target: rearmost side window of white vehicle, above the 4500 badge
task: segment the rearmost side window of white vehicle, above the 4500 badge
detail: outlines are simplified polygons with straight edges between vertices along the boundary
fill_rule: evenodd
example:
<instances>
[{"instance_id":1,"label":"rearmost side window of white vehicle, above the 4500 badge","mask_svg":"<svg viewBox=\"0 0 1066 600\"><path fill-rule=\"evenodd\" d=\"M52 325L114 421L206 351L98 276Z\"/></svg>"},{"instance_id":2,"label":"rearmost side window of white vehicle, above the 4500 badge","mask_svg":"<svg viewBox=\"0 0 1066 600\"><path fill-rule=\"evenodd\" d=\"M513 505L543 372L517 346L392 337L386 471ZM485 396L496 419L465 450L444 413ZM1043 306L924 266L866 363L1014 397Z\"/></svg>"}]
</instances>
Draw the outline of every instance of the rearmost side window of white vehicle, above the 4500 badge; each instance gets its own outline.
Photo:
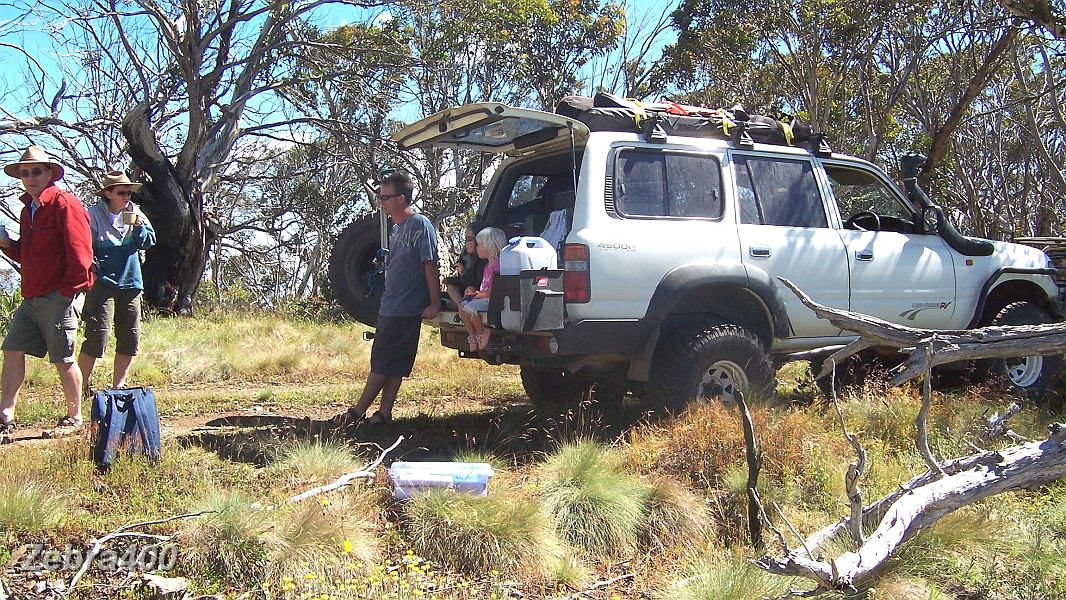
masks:
<instances>
[{"instance_id":1,"label":"rearmost side window of white vehicle, above the 4500 badge","mask_svg":"<svg viewBox=\"0 0 1066 600\"><path fill-rule=\"evenodd\" d=\"M627 149L614 171L615 209L623 216L722 216L722 171L713 157Z\"/></svg>"}]
</instances>

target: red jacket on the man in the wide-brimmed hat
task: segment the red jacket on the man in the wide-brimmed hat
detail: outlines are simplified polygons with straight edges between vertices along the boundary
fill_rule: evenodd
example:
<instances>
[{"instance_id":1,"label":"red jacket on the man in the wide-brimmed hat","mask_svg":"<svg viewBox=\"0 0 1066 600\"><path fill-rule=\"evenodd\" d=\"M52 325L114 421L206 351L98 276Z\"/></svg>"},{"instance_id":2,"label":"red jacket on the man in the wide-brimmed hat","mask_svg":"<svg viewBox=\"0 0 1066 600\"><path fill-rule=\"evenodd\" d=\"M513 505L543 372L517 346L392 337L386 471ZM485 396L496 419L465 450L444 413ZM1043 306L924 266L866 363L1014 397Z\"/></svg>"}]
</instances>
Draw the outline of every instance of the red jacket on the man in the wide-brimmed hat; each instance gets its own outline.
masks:
<instances>
[{"instance_id":1,"label":"red jacket on the man in the wide-brimmed hat","mask_svg":"<svg viewBox=\"0 0 1066 600\"><path fill-rule=\"evenodd\" d=\"M41 206L30 223L29 194L19 220L20 238L3 254L21 263L22 297L33 298L59 290L66 297L93 286L93 236L88 212L78 196L55 184L41 193Z\"/></svg>"}]
</instances>

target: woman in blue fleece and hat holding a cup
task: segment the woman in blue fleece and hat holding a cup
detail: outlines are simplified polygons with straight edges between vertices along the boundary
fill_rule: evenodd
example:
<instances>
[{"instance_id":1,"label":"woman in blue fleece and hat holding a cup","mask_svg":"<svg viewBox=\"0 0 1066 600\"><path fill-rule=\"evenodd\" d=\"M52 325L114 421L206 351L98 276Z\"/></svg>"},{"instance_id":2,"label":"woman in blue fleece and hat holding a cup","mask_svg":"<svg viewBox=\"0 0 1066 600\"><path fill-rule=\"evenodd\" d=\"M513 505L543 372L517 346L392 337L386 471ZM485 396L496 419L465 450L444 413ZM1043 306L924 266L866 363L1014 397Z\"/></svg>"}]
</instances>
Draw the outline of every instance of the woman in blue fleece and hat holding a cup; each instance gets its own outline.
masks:
<instances>
[{"instance_id":1,"label":"woman in blue fleece and hat holding a cup","mask_svg":"<svg viewBox=\"0 0 1066 600\"><path fill-rule=\"evenodd\" d=\"M130 363L138 353L141 334L141 250L156 244L156 231L141 209L131 201L141 183L125 173L112 171L96 193L100 201L88 210L93 231L93 266L96 283L85 295L85 341L78 367L88 387L96 360L103 356L111 321L115 324L115 369L112 387L126 387Z\"/></svg>"}]
</instances>

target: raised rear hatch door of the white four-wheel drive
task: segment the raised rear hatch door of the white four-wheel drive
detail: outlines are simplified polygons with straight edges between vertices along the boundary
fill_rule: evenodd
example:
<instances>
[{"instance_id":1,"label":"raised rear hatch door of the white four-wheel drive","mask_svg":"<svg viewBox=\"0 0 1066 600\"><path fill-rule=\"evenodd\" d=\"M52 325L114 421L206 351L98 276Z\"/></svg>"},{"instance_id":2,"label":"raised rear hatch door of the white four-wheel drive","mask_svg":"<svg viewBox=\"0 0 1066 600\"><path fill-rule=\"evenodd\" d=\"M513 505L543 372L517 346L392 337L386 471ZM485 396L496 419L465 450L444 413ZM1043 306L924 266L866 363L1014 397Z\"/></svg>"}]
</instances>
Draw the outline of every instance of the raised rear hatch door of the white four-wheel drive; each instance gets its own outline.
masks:
<instances>
[{"instance_id":1,"label":"raised rear hatch door of the white four-wheel drive","mask_svg":"<svg viewBox=\"0 0 1066 600\"><path fill-rule=\"evenodd\" d=\"M452 147L511 156L542 152L588 140L588 128L554 113L516 109L499 102L478 102L447 109L392 134L404 150Z\"/></svg>"}]
</instances>

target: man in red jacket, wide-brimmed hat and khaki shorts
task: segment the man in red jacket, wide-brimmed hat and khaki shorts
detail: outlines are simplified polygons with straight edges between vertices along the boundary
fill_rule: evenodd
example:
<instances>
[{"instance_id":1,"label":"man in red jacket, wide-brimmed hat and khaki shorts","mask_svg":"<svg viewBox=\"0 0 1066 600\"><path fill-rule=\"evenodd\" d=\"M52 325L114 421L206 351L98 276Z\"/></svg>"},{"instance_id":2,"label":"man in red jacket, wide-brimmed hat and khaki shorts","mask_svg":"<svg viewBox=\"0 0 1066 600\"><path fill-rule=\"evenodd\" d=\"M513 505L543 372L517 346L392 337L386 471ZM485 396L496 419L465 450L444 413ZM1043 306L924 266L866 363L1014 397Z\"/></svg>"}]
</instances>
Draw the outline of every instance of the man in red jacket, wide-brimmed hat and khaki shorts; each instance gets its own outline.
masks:
<instances>
[{"instance_id":1,"label":"man in red jacket, wide-brimmed hat and khaki shorts","mask_svg":"<svg viewBox=\"0 0 1066 600\"><path fill-rule=\"evenodd\" d=\"M26 379L26 355L55 364L66 399L66 417L50 432L60 436L81 428L81 370L74 359L78 319L84 292L92 287L93 245L88 213L77 196L61 190L59 164L37 146L4 166L22 182L26 205L19 218L19 239L0 234L0 249L21 264L22 304L12 315L3 340L0 375L0 443L15 431L15 401Z\"/></svg>"}]
</instances>

